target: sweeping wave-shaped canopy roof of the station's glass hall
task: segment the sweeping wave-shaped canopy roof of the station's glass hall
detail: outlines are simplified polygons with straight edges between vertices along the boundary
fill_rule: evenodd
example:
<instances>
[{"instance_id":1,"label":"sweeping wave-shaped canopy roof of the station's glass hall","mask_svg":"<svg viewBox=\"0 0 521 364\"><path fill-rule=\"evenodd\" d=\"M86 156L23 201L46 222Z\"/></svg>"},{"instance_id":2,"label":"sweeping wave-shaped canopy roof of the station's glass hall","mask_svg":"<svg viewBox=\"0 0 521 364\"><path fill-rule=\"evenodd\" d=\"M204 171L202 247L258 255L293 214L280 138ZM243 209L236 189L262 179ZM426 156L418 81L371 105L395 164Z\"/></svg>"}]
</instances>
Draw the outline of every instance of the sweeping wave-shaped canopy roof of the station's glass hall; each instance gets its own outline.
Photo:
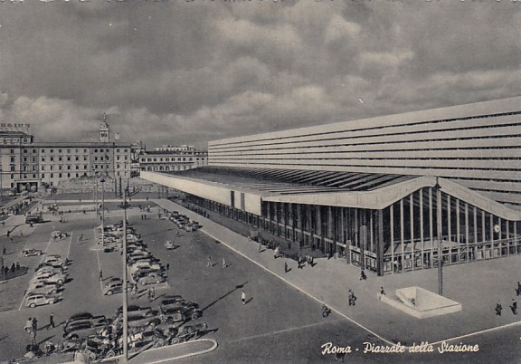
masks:
<instances>
[{"instance_id":1,"label":"sweeping wave-shaped canopy roof of the station's glass hall","mask_svg":"<svg viewBox=\"0 0 521 364\"><path fill-rule=\"evenodd\" d=\"M369 209L384 209L422 187L438 186L491 214L521 220L520 211L441 177L213 166L161 174L230 188L263 201Z\"/></svg>"}]
</instances>

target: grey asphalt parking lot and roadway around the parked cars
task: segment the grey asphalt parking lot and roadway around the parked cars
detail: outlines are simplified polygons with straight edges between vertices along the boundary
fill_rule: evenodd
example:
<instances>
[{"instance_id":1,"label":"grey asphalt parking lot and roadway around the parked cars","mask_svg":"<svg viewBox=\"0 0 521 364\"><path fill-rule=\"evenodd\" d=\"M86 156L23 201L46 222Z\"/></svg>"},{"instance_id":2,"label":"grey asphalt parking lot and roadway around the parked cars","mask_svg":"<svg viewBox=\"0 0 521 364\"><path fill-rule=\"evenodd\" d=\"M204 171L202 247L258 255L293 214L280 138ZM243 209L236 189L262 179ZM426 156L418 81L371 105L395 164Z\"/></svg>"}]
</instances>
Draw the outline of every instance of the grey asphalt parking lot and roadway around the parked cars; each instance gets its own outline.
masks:
<instances>
[{"instance_id":1,"label":"grey asphalt parking lot and roadway around the parked cars","mask_svg":"<svg viewBox=\"0 0 521 364\"><path fill-rule=\"evenodd\" d=\"M340 346L363 349L365 342L378 343L373 335L356 326L335 312L322 317L321 306L277 276L267 273L260 266L236 254L202 231L180 230L166 220L162 209L151 202L147 219L134 207L128 209L128 222L141 235L147 251L153 254L166 268L167 282L138 285L136 293L128 292L128 304L152 307L159 310L160 303L168 296L181 295L186 301L196 302L203 316L187 324L206 323L208 332L204 338L219 343L216 350L204 356L184 359L183 362L327 362L334 355L322 355L321 346L327 342ZM118 204L108 204L106 224L115 224L122 219ZM159 218L159 213L162 213ZM0 244L6 247L5 260L8 264L19 262L28 267L28 273L0 284L0 325L6 328L0 335L0 360L20 358L26 344L31 340L24 331L28 318L36 317L38 331L36 341L43 347L45 342L62 340L63 326L72 314L88 311L93 315L113 317L122 304L122 295L104 295L105 285L113 278L121 278L123 258L120 250L105 252L99 244L96 226L99 218L93 212L65 214L65 223L58 216L46 215L42 225L19 226L24 236L16 235L11 242L5 236ZM54 240L52 232L61 231L68 236ZM167 249L166 241L172 240L175 249ZM23 249L41 249L41 256L24 257ZM69 280L64 284L61 301L36 308L24 306L25 291L33 277L34 268L46 256L60 254L70 260L67 267ZM100 280L99 271L102 271ZM154 287L154 298L149 298L148 289ZM242 292L246 304L242 302ZM47 327L53 313L56 327ZM518 336L518 327L509 329ZM487 348L489 338L496 339L500 333L488 332L475 340ZM500 340L495 340L495 342ZM502 344L505 348L503 362L510 362L516 352L514 342ZM516 346L514 346L516 345ZM494 351L497 352L497 343ZM508 355L509 353L509 355ZM486 359L486 353L483 353ZM354 351L351 360L374 362L380 357ZM403 359L437 362L440 357L433 354L419 356L387 354L384 359L400 362ZM489 358L491 358L489 356ZM450 354L450 360L465 362L476 359L469 354ZM483 361L485 362L485 361Z\"/></svg>"}]
</instances>

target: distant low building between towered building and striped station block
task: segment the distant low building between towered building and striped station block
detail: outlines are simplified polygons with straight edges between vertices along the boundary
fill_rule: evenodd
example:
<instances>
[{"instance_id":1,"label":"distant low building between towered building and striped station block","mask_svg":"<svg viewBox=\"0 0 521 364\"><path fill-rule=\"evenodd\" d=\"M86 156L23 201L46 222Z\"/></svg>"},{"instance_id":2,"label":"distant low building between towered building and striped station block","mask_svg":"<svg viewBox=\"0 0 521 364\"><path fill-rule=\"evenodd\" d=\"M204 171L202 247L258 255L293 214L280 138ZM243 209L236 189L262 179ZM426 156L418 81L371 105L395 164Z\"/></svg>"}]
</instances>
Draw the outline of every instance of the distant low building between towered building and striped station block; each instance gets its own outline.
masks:
<instances>
[{"instance_id":1,"label":"distant low building between towered building and striped station block","mask_svg":"<svg viewBox=\"0 0 521 364\"><path fill-rule=\"evenodd\" d=\"M208 152L195 150L193 146L162 146L153 151L144 150L139 157L142 171L170 172L206 166Z\"/></svg>"}]
</instances>

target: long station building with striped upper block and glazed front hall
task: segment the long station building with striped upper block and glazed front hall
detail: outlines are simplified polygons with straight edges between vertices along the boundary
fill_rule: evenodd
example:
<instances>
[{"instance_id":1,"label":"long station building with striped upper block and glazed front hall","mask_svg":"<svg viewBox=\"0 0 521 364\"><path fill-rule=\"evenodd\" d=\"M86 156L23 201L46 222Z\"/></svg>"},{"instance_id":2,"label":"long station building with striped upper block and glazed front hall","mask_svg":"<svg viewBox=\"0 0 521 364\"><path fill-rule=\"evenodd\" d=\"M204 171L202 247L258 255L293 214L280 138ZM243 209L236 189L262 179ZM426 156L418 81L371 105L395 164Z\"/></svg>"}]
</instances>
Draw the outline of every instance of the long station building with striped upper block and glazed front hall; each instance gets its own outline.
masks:
<instances>
[{"instance_id":1,"label":"long station building with striped upper block and glazed front hall","mask_svg":"<svg viewBox=\"0 0 521 364\"><path fill-rule=\"evenodd\" d=\"M521 97L215 140L141 177L379 275L521 254Z\"/></svg>"}]
</instances>

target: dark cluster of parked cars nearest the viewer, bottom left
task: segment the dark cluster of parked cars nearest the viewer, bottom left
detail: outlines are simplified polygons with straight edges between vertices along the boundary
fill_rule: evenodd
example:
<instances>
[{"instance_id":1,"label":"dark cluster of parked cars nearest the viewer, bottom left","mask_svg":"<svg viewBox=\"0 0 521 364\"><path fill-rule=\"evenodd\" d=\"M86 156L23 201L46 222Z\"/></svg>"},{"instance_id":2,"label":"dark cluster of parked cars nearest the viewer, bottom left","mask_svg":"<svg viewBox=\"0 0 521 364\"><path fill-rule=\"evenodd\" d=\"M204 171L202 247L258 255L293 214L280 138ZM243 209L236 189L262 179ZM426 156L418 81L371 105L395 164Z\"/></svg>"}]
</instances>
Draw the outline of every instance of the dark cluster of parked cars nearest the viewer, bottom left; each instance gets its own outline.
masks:
<instances>
[{"instance_id":1,"label":"dark cluster of parked cars nearest the viewer, bottom left","mask_svg":"<svg viewBox=\"0 0 521 364\"><path fill-rule=\"evenodd\" d=\"M146 345L158 348L203 336L205 322L188 324L203 312L194 302L178 295L165 296L156 307L128 306L128 348L132 352ZM72 315L63 326L62 350L82 350L91 359L105 359L121 353L123 308L112 318L90 312ZM180 324L177 324L180 322Z\"/></svg>"}]
</instances>

